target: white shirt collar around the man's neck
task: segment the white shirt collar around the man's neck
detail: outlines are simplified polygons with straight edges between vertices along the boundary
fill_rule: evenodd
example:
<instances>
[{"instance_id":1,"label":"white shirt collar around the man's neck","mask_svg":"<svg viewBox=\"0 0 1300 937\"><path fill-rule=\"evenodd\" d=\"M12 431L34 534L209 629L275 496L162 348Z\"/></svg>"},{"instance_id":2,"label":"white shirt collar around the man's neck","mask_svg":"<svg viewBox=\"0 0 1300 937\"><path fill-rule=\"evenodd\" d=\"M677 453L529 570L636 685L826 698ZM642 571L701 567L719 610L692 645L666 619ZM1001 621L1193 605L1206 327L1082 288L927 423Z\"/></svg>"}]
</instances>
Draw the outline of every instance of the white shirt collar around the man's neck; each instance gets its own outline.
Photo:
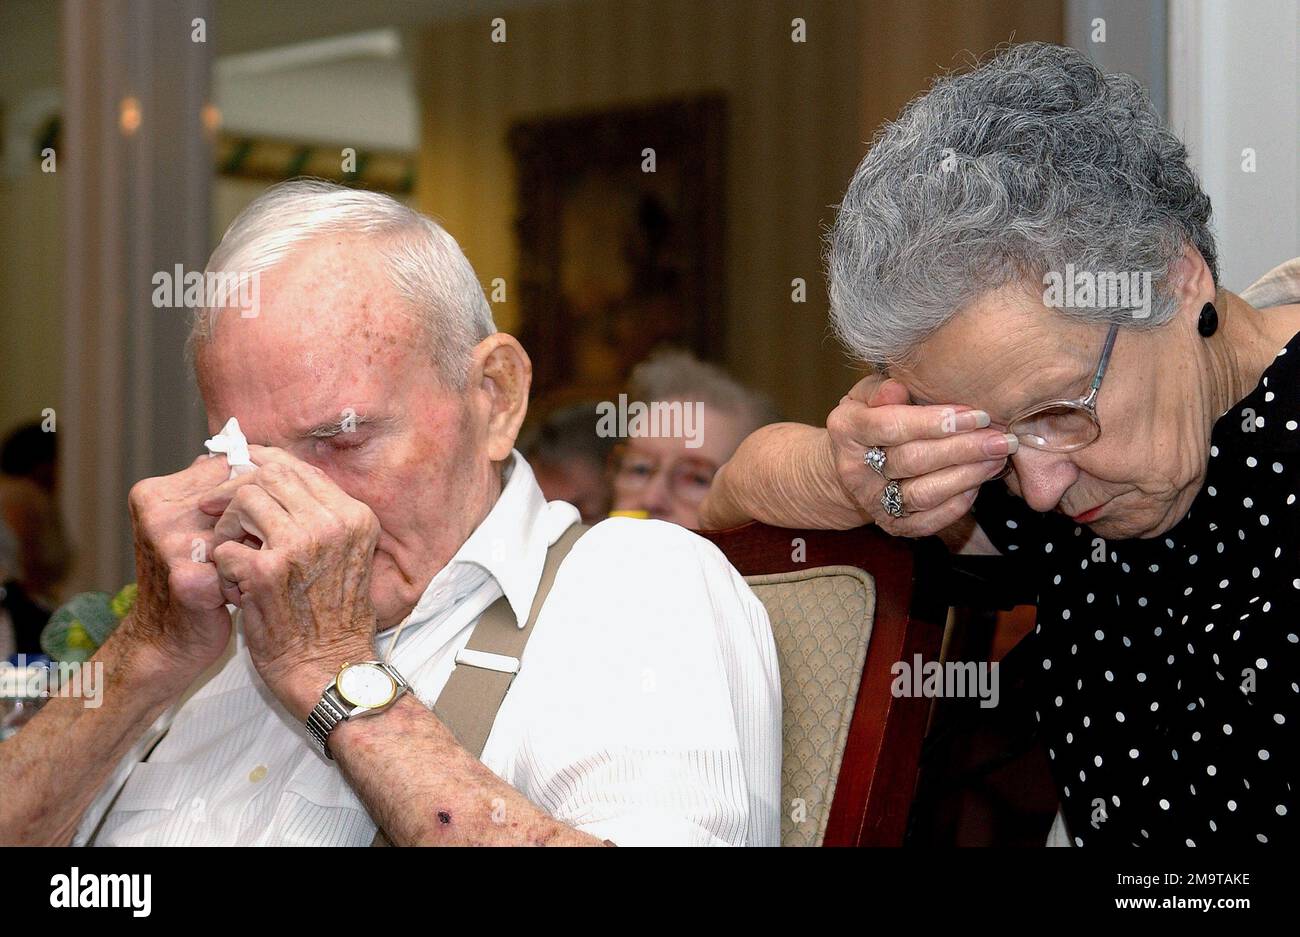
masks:
<instances>
[{"instance_id":1,"label":"white shirt collar around the man's neck","mask_svg":"<svg viewBox=\"0 0 1300 937\"><path fill-rule=\"evenodd\" d=\"M488 577L497 580L519 626L528 623L546 551L578 520L578 513L564 502L547 504L532 467L517 450L511 452L503 481L491 511L425 587L408 626L437 617Z\"/></svg>"}]
</instances>

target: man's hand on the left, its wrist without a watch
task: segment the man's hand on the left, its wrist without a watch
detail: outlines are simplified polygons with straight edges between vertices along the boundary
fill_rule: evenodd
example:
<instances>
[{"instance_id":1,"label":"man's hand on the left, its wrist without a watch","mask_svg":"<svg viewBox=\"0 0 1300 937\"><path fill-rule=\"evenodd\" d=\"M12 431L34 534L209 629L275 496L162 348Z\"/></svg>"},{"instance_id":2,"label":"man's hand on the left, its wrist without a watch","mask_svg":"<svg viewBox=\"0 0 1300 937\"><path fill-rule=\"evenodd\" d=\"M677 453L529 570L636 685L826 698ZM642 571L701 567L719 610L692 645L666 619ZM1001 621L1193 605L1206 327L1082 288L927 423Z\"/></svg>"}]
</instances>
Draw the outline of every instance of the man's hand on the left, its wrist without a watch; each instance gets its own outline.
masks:
<instances>
[{"instance_id":1,"label":"man's hand on the left, its wrist without a watch","mask_svg":"<svg viewBox=\"0 0 1300 937\"><path fill-rule=\"evenodd\" d=\"M214 520L199 508L230 473L202 455L176 474L146 478L127 503L135 538L135 607L114 637L130 642L151 673L185 689L230 641L230 615L212 565Z\"/></svg>"}]
</instances>

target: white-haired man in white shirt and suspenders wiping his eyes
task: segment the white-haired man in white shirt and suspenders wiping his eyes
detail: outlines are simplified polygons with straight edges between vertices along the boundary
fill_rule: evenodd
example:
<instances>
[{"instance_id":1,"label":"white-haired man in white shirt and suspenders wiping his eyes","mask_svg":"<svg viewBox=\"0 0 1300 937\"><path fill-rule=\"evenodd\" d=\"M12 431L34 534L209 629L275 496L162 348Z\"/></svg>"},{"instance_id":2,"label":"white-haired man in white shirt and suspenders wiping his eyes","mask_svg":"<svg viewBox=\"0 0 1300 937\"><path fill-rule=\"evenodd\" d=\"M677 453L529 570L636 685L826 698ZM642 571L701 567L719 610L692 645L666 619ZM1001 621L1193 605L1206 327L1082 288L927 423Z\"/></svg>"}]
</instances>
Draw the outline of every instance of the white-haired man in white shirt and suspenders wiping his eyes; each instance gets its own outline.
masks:
<instances>
[{"instance_id":1,"label":"white-haired man in white shirt and suspenders wiping his eyes","mask_svg":"<svg viewBox=\"0 0 1300 937\"><path fill-rule=\"evenodd\" d=\"M455 240L291 182L209 270L260 277L257 316L200 316L192 342L209 428L238 417L256 468L200 456L131 490L139 599L99 651L104 704L52 700L0 746L0 837L775 845L768 623L677 526L577 541L481 760L430 708L512 669L467 642L493 610L532 619L577 521L514 452L529 360Z\"/></svg>"}]
</instances>

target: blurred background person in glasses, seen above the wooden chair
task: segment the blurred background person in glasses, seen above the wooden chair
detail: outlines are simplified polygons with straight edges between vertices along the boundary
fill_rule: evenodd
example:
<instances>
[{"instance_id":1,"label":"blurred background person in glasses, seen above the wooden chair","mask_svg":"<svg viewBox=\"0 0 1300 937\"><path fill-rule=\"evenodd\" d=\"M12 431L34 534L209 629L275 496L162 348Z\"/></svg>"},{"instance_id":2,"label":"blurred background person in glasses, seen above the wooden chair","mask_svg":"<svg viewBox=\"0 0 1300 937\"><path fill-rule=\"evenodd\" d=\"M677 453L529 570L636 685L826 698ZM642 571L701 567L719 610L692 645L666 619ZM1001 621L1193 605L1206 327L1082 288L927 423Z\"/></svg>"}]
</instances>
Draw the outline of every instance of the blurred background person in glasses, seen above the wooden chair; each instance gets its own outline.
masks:
<instances>
[{"instance_id":1,"label":"blurred background person in glasses, seen above the wooden chair","mask_svg":"<svg viewBox=\"0 0 1300 937\"><path fill-rule=\"evenodd\" d=\"M766 396L676 348L636 365L627 396L629 407L680 412L684 431L672 431L671 420L629 421L612 454L614 509L693 529L718 468L746 435L780 418Z\"/></svg>"}]
</instances>

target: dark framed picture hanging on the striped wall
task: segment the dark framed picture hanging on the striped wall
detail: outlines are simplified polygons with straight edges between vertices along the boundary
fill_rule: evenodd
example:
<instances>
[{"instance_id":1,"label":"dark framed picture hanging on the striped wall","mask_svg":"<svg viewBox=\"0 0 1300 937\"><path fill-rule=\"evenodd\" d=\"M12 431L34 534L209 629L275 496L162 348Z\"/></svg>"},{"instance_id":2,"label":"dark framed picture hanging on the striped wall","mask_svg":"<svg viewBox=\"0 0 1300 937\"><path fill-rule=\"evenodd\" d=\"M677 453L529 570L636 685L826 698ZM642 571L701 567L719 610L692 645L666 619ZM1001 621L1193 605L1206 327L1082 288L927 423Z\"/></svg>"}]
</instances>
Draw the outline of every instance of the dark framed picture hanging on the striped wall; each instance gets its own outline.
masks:
<instances>
[{"instance_id":1,"label":"dark framed picture hanging on the striped wall","mask_svg":"<svg viewBox=\"0 0 1300 937\"><path fill-rule=\"evenodd\" d=\"M534 392L607 399L659 346L722 353L725 103L516 123L521 340Z\"/></svg>"}]
</instances>

